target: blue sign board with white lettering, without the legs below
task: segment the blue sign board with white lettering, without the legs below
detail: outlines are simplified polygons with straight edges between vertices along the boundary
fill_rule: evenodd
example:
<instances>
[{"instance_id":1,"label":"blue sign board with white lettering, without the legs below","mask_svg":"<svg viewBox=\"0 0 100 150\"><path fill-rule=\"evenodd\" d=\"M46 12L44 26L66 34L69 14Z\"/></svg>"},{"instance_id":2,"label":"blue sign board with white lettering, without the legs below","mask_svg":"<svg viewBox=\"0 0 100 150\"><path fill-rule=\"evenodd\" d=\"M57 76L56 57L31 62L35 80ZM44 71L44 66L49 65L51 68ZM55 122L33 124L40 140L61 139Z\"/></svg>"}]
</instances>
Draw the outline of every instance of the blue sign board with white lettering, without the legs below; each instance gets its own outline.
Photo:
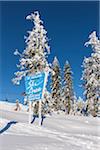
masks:
<instances>
[{"instance_id":1,"label":"blue sign board with white lettering, without the legs below","mask_svg":"<svg viewBox=\"0 0 100 150\"><path fill-rule=\"evenodd\" d=\"M33 76L25 77L26 94L30 101L42 99L45 73L37 73Z\"/></svg>"}]
</instances>

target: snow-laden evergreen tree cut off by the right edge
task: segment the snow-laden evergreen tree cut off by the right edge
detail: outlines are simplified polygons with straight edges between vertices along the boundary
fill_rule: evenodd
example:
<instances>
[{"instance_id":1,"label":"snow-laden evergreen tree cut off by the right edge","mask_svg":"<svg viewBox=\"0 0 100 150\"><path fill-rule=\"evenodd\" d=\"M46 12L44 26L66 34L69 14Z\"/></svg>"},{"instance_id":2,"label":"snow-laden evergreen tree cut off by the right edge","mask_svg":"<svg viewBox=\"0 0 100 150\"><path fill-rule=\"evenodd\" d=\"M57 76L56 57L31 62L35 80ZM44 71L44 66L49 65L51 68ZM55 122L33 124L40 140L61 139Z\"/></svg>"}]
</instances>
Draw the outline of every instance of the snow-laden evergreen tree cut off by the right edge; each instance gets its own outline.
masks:
<instances>
[{"instance_id":1,"label":"snow-laden evergreen tree cut off by the right edge","mask_svg":"<svg viewBox=\"0 0 100 150\"><path fill-rule=\"evenodd\" d=\"M84 58L82 79L84 80L88 113L97 116L100 107L100 40L96 37L95 31L90 34L89 41L85 43L85 46L89 45L93 53L89 58Z\"/></svg>"}]
</instances>

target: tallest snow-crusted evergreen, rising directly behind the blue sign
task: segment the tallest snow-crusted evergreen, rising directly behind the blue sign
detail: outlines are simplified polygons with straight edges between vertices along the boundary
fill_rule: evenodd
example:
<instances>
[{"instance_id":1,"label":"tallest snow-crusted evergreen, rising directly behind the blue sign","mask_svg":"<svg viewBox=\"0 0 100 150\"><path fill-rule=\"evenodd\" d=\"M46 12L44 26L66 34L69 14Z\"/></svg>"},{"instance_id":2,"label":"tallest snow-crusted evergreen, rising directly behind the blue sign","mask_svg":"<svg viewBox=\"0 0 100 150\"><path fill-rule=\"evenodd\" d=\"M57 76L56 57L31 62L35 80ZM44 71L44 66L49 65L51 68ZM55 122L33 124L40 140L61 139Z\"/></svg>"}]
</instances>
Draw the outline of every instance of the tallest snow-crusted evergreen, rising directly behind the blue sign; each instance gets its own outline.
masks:
<instances>
[{"instance_id":1,"label":"tallest snow-crusted evergreen, rising directly behind the blue sign","mask_svg":"<svg viewBox=\"0 0 100 150\"><path fill-rule=\"evenodd\" d=\"M28 37L25 37L26 48L22 54L16 50L15 55L19 55L19 71L15 72L14 84L19 85L23 77L32 75L36 72L49 71L50 67L47 61L47 55L50 53L48 45L47 31L44 29L43 21L40 19L38 11L28 15L34 24L32 31L28 31Z\"/></svg>"}]
</instances>

